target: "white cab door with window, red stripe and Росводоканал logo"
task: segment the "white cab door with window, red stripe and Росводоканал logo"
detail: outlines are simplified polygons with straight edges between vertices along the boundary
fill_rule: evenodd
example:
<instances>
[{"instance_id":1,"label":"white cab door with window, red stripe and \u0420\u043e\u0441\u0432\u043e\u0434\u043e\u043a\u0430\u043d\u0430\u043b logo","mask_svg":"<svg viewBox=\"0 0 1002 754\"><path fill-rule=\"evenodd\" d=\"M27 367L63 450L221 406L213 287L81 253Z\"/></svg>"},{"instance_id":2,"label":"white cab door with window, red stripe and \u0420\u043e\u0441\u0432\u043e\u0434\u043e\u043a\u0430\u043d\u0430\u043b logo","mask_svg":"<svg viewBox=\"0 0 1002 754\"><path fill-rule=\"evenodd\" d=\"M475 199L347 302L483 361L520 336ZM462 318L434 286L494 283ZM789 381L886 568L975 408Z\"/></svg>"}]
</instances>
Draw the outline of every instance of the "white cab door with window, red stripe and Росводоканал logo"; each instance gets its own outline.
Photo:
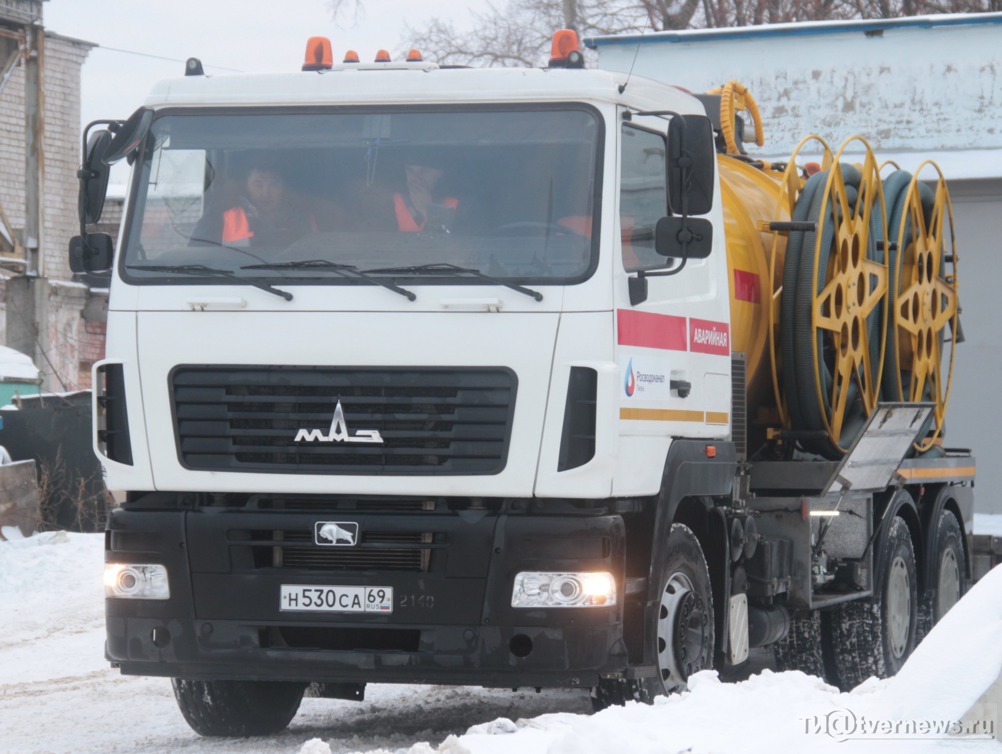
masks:
<instances>
[{"instance_id":1,"label":"white cab door with window, red stripe and \u0420\u043e\u0441\u0432\u043e\u0434\u043e\u043a\u0430\u043d\u0430\u043b logo","mask_svg":"<svg viewBox=\"0 0 1002 754\"><path fill-rule=\"evenodd\" d=\"M667 210L667 121L634 116L619 131L619 262L616 361L619 433L627 436L724 437L729 431L730 341L719 201L714 250L671 276L647 278L647 297L632 305L627 278L676 269L654 251L654 228ZM717 197L719 194L717 193ZM722 273L720 271L722 265Z\"/></svg>"}]
</instances>

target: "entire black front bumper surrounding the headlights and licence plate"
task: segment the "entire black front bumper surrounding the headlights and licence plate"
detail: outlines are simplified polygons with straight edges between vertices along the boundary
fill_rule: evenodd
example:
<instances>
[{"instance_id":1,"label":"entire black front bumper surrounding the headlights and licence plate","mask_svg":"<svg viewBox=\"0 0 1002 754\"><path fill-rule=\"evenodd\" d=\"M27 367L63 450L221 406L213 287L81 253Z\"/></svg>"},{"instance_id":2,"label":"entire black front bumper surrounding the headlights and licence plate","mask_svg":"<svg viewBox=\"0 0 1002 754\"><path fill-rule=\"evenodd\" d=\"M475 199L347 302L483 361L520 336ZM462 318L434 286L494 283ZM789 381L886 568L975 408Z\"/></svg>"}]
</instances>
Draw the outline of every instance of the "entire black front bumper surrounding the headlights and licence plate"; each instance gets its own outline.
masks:
<instances>
[{"instance_id":1,"label":"entire black front bumper surrounding the headlights and licence plate","mask_svg":"<svg viewBox=\"0 0 1002 754\"><path fill-rule=\"evenodd\" d=\"M106 600L105 655L126 675L185 679L595 686L600 674L628 665L622 518L531 508L522 500L475 513L443 504L364 515L116 510L105 559L164 564L170 599ZM276 542L241 538L312 530L332 517L358 522L363 543L377 531L427 531L435 548L416 573L323 571L263 561ZM608 571L617 578L617 605L513 609L520 571ZM392 587L395 609L291 614L279 609L282 584Z\"/></svg>"}]
</instances>

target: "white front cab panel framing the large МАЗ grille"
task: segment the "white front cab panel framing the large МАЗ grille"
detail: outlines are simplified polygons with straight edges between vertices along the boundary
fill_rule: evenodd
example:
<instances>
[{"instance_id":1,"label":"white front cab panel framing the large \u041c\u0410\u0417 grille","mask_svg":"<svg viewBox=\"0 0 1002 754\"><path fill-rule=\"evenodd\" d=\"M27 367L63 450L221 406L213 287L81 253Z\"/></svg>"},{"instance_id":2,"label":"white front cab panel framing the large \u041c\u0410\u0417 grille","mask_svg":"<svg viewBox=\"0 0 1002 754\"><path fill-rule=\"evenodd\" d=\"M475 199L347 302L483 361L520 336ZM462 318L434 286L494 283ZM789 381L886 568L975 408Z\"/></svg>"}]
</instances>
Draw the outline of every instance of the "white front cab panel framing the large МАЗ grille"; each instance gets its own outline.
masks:
<instances>
[{"instance_id":1,"label":"white front cab panel framing the large \u041c\u0410\u0417 grille","mask_svg":"<svg viewBox=\"0 0 1002 754\"><path fill-rule=\"evenodd\" d=\"M363 290L372 293L371 288ZM498 290L494 288L492 293ZM269 296L259 291L253 293ZM248 300L250 295L247 292ZM406 299L400 298L406 303ZM137 318L143 404L157 489L532 494L558 314L441 311L278 314L244 310L139 312ZM508 367L518 377L518 388L507 464L500 473L483 476L188 470L177 457L168 385L170 370L179 364Z\"/></svg>"}]
</instances>

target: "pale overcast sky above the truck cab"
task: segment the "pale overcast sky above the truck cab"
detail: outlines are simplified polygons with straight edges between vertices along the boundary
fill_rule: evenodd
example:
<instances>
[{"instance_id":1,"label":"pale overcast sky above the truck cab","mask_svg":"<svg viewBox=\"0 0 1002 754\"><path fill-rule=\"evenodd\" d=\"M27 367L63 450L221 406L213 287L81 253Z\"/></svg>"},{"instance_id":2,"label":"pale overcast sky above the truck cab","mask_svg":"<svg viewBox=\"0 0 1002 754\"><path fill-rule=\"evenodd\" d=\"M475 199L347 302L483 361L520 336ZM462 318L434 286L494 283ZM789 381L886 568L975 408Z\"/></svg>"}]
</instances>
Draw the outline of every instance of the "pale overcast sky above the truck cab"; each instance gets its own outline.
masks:
<instances>
[{"instance_id":1,"label":"pale overcast sky above the truck cab","mask_svg":"<svg viewBox=\"0 0 1002 754\"><path fill-rule=\"evenodd\" d=\"M153 84L183 73L195 56L206 73L223 66L241 71L299 70L307 39L331 38L335 59L347 49L372 59L381 47L400 46L404 22L420 25L431 16L468 23L467 8L483 0L368 0L353 26L336 24L328 0L49 0L45 26L96 42L83 66L82 119L124 118L142 104ZM110 48L129 50L117 52Z\"/></svg>"}]
</instances>

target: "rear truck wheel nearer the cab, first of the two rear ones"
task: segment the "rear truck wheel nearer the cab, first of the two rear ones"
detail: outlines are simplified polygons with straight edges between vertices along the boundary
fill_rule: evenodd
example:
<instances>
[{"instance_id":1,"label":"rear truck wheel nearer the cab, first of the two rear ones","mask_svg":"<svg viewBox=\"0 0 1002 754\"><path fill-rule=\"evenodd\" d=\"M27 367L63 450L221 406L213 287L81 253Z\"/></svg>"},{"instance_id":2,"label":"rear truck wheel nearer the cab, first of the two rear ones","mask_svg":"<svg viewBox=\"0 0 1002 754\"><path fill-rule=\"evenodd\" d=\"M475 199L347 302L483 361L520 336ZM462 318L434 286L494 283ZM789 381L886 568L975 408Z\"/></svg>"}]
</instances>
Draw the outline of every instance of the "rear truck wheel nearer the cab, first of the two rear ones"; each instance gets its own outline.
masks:
<instances>
[{"instance_id":1,"label":"rear truck wheel nearer the cab, first of the two rear ones","mask_svg":"<svg viewBox=\"0 0 1002 754\"><path fill-rule=\"evenodd\" d=\"M915 649L918 590L915 548L908 524L895 517L880 553L876 599L843 603L827 616L826 652L834 678L843 691L871 676L895 675Z\"/></svg>"}]
</instances>

